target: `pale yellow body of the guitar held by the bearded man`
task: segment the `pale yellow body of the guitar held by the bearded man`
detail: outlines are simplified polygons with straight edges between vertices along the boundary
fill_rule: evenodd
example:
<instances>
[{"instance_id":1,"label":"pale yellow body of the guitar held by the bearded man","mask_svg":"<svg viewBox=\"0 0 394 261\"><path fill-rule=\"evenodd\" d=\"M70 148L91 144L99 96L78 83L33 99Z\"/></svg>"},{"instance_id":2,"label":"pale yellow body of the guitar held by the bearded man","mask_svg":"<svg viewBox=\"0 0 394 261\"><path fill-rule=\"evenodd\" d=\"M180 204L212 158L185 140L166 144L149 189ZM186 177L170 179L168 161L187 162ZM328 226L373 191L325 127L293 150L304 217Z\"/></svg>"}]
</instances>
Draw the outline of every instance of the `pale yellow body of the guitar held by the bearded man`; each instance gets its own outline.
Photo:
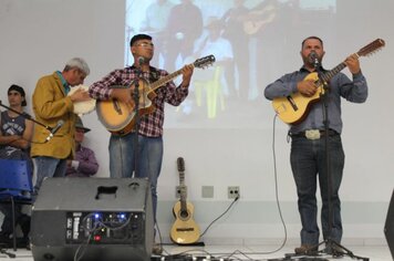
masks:
<instances>
[{"instance_id":1,"label":"pale yellow body of the guitar held by the bearded man","mask_svg":"<svg viewBox=\"0 0 394 261\"><path fill-rule=\"evenodd\" d=\"M318 73L310 73L303 81L313 80L318 81ZM320 101L320 94L323 87L317 86L318 91L313 96L307 97L301 93L294 93L287 97L278 97L272 101L272 107L278 114L278 117L287 124L298 124L302 122L308 115L309 108Z\"/></svg>"}]
</instances>

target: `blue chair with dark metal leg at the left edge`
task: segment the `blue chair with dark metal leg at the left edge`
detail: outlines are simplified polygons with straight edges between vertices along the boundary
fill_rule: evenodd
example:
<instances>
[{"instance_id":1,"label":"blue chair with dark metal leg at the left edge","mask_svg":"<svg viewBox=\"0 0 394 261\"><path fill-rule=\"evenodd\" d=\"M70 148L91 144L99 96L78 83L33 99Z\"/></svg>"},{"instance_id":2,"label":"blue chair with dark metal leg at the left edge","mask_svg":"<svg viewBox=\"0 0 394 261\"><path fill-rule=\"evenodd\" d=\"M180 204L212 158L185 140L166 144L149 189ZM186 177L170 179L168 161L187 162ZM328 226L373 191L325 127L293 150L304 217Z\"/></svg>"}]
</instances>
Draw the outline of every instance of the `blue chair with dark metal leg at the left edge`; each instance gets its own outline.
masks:
<instances>
[{"instance_id":1,"label":"blue chair with dark metal leg at the left edge","mask_svg":"<svg viewBox=\"0 0 394 261\"><path fill-rule=\"evenodd\" d=\"M0 201L11 203L13 251L17 251L15 203L33 203L31 171L27 160L0 159Z\"/></svg>"}]
</instances>

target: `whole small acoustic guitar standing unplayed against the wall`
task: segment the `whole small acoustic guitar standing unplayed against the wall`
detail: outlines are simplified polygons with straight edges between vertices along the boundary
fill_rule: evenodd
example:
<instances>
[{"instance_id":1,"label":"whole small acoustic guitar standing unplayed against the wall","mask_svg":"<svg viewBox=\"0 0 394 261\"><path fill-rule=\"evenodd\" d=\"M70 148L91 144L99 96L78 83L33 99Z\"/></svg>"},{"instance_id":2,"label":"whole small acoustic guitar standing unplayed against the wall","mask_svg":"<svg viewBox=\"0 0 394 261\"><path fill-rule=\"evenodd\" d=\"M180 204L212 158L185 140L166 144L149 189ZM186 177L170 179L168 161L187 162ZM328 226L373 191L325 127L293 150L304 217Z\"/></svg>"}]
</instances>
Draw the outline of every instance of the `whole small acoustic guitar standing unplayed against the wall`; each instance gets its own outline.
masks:
<instances>
[{"instance_id":1,"label":"whole small acoustic guitar standing unplayed against the wall","mask_svg":"<svg viewBox=\"0 0 394 261\"><path fill-rule=\"evenodd\" d=\"M200 236L200 230L198 225L193 218L194 206L186 200L186 186L185 186L185 161L184 158L179 157L177 159L178 171L179 171L179 189L180 199L177 201L173 208L174 217L176 218L172 230L170 239L178 244L190 244L198 241Z\"/></svg>"}]
</instances>

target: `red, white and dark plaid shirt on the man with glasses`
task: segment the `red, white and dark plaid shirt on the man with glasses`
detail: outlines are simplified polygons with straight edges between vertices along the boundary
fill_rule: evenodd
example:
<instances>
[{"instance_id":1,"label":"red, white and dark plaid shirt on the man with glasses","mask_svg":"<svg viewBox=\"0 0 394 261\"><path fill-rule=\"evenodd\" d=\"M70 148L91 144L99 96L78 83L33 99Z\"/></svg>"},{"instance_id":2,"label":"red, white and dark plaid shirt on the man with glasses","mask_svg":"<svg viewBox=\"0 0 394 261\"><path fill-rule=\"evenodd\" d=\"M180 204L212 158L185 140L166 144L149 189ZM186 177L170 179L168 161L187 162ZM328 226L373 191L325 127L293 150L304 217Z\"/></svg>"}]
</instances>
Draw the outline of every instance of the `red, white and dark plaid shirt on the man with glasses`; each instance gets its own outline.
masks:
<instances>
[{"instance_id":1,"label":"red, white and dark plaid shirt on the man with glasses","mask_svg":"<svg viewBox=\"0 0 394 261\"><path fill-rule=\"evenodd\" d=\"M101 81L93 83L89 88L89 93L93 98L96 100L110 100L112 86L132 86L134 81L137 79L137 70L134 66L114 70L104 76ZM153 83L166 75L168 75L166 71L151 66L149 72L143 72L139 79L146 80L147 83ZM155 111L141 117L138 133L147 137L159 137L163 135L165 103L178 106L188 95L188 88L182 86L176 87L174 82L170 81L162 87L157 88L155 93L157 96L152 98ZM147 95L146 86L143 92L139 92L139 95Z\"/></svg>"}]
</instances>

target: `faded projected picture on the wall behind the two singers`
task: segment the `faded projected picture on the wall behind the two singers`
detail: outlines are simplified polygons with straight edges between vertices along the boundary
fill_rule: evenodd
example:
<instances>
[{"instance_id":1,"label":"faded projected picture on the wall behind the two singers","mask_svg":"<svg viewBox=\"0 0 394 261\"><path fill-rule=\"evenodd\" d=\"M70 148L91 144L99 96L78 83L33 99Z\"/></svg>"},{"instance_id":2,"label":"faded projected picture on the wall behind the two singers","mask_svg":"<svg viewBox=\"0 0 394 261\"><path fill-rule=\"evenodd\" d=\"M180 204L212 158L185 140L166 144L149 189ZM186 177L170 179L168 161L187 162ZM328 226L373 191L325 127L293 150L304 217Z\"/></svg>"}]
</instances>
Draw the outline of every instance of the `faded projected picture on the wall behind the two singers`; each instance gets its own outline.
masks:
<instances>
[{"instance_id":1,"label":"faded projected picture on the wall behind the two singers","mask_svg":"<svg viewBox=\"0 0 394 261\"><path fill-rule=\"evenodd\" d=\"M125 64L136 33L153 36L151 64L169 73L212 54L212 66L195 69L188 98L166 106L166 127L267 126L265 86L301 66L293 52L301 32L319 21L329 34L334 29L322 24L334 14L335 0L126 0Z\"/></svg>"}]
</instances>

